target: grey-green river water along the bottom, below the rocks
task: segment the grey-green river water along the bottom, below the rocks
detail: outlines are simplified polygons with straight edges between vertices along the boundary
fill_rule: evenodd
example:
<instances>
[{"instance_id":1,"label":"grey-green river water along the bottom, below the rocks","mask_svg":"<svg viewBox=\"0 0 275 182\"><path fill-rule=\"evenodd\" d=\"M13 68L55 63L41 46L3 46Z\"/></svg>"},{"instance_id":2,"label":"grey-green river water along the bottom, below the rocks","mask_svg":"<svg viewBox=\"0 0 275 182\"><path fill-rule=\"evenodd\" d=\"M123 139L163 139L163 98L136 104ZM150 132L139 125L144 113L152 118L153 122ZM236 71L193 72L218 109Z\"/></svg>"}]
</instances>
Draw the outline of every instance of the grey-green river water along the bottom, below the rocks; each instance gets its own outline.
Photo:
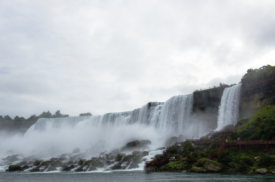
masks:
<instances>
[{"instance_id":1,"label":"grey-green river water along the bottom, below the rocks","mask_svg":"<svg viewBox=\"0 0 275 182\"><path fill-rule=\"evenodd\" d=\"M275 181L274 175L218 174L189 172L112 171L112 172L0 172L0 181Z\"/></svg>"}]
</instances>

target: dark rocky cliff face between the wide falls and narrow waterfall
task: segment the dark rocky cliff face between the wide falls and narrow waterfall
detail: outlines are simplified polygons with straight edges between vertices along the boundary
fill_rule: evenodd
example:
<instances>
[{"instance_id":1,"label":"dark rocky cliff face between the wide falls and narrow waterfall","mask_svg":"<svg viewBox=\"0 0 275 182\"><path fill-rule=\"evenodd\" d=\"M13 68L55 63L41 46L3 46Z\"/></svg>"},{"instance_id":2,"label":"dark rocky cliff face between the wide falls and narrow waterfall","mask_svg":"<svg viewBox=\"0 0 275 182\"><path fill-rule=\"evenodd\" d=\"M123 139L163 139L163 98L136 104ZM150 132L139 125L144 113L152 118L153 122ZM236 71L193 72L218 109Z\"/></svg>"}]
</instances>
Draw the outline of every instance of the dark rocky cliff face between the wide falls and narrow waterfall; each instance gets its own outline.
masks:
<instances>
[{"instance_id":1,"label":"dark rocky cliff face between the wide falls and narrow waterfall","mask_svg":"<svg viewBox=\"0 0 275 182\"><path fill-rule=\"evenodd\" d=\"M217 127L218 111L225 86L215 87L193 93L193 115L201 121L209 123L209 127Z\"/></svg>"}]
</instances>

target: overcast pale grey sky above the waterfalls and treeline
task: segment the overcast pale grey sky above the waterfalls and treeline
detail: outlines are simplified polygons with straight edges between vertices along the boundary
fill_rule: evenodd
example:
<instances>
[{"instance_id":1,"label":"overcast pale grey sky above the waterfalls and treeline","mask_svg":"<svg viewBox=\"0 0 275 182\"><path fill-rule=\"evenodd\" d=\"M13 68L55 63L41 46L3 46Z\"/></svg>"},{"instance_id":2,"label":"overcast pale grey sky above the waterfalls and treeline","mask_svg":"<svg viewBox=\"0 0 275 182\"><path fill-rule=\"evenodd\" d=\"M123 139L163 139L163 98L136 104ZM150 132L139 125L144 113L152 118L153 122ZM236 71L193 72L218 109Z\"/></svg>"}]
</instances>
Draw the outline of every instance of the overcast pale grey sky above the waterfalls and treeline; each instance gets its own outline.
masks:
<instances>
[{"instance_id":1,"label":"overcast pale grey sky above the waterfalls and treeline","mask_svg":"<svg viewBox=\"0 0 275 182\"><path fill-rule=\"evenodd\" d=\"M130 111L275 65L275 1L0 0L0 115Z\"/></svg>"}]
</instances>

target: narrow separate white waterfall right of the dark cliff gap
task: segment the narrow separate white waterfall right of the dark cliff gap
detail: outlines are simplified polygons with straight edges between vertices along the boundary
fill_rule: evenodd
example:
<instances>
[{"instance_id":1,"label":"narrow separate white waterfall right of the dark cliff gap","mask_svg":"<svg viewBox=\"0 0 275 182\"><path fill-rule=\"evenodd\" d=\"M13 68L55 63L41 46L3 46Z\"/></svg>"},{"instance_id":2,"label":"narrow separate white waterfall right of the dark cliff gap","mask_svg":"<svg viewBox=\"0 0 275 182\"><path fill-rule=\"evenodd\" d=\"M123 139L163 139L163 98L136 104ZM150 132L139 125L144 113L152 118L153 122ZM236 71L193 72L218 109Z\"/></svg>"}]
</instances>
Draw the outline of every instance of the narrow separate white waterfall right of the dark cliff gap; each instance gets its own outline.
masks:
<instances>
[{"instance_id":1,"label":"narrow separate white waterfall right of the dark cliff gap","mask_svg":"<svg viewBox=\"0 0 275 182\"><path fill-rule=\"evenodd\" d=\"M224 89L218 113L218 126L221 130L228 124L235 125L239 118L239 103L241 96L241 83Z\"/></svg>"}]
</instances>

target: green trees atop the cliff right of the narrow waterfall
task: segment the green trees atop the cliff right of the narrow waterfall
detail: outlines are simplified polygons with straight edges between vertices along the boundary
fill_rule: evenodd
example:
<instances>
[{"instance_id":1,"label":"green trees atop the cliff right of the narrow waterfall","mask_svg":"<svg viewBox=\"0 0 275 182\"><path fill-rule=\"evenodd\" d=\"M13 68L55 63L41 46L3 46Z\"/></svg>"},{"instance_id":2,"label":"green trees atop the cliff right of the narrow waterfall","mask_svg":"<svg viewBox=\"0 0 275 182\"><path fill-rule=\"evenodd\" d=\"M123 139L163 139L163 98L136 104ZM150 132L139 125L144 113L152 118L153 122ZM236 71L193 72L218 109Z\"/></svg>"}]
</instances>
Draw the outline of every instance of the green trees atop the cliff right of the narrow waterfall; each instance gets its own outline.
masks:
<instances>
[{"instance_id":1,"label":"green trees atop the cliff right of the narrow waterfall","mask_svg":"<svg viewBox=\"0 0 275 182\"><path fill-rule=\"evenodd\" d=\"M275 77L275 66L266 65L258 69L248 69L242 78L242 83L259 81L270 77Z\"/></svg>"}]
</instances>

